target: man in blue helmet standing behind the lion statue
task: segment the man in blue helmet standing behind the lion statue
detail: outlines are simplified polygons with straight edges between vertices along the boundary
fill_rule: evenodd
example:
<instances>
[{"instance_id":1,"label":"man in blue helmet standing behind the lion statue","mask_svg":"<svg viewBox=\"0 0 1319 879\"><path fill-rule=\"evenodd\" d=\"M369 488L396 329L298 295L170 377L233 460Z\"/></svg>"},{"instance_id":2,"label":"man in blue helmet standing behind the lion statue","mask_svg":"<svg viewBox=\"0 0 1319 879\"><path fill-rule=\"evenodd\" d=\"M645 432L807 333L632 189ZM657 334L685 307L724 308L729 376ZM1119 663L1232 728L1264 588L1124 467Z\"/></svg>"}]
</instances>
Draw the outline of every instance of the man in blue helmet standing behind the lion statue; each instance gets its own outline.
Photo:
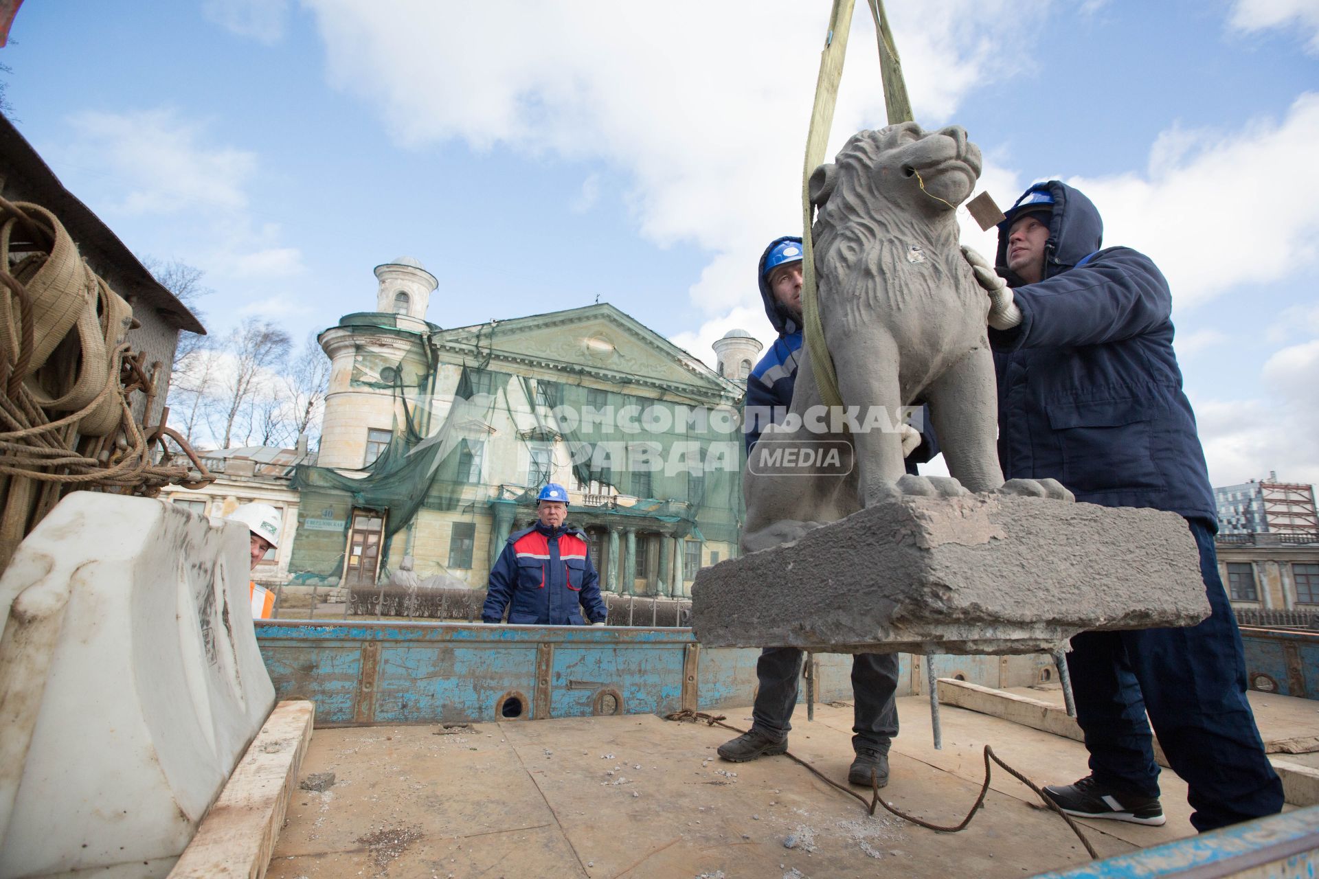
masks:
<instances>
[{"instance_id":1,"label":"man in blue helmet standing behind the lion statue","mask_svg":"<svg viewBox=\"0 0 1319 879\"><path fill-rule=\"evenodd\" d=\"M761 431L777 423L793 402L798 358L802 356L802 240L783 236L770 241L757 266L760 295L765 314L778 331L778 339L752 370L747 381L747 449ZM907 470L915 461L938 453L933 434L907 456ZM789 722L797 705L802 651L795 647L766 647L756 663L760 689L752 710L749 733L719 746L719 756L741 763L787 750ZM894 693L898 680L897 654L856 654L852 658L852 750L856 759L848 768L852 784L871 787L874 775L880 787L889 781L889 745L898 734Z\"/></svg>"}]
</instances>

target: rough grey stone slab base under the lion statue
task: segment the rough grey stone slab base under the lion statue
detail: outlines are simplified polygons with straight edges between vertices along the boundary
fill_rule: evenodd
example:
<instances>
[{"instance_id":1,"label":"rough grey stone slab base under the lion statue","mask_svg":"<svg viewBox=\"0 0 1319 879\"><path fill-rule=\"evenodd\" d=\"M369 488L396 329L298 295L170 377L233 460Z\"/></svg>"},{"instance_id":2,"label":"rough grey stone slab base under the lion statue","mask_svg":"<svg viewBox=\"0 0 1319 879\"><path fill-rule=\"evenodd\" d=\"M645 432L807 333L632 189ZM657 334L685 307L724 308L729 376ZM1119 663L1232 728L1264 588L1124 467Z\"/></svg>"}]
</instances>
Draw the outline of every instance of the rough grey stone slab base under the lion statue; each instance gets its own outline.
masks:
<instances>
[{"instance_id":1,"label":"rough grey stone slab base under the lion statue","mask_svg":"<svg viewBox=\"0 0 1319 879\"><path fill-rule=\"evenodd\" d=\"M1086 630L1206 615L1175 513L996 494L880 503L703 568L692 586L708 647L1043 652Z\"/></svg>"}]
</instances>

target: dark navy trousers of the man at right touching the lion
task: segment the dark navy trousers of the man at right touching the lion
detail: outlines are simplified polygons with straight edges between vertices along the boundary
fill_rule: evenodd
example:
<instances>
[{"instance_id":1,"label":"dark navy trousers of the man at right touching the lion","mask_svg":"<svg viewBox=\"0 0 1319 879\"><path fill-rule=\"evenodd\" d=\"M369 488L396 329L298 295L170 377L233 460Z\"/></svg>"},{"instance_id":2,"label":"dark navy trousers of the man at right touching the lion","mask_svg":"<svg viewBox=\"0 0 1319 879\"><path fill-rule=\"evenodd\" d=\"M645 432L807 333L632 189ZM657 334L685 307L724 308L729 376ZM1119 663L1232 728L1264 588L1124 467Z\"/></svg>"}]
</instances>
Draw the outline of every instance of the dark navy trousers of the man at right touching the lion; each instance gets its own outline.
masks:
<instances>
[{"instance_id":1,"label":"dark navy trousers of the man at right touching the lion","mask_svg":"<svg viewBox=\"0 0 1319 879\"><path fill-rule=\"evenodd\" d=\"M1264 755L1246 701L1236 615L1219 577L1213 534L1191 519L1212 614L1188 629L1088 631L1067 654L1076 720L1096 781L1158 796L1150 725L1186 780L1196 830L1282 809L1282 783ZM1146 713L1149 721L1146 722Z\"/></svg>"}]
</instances>

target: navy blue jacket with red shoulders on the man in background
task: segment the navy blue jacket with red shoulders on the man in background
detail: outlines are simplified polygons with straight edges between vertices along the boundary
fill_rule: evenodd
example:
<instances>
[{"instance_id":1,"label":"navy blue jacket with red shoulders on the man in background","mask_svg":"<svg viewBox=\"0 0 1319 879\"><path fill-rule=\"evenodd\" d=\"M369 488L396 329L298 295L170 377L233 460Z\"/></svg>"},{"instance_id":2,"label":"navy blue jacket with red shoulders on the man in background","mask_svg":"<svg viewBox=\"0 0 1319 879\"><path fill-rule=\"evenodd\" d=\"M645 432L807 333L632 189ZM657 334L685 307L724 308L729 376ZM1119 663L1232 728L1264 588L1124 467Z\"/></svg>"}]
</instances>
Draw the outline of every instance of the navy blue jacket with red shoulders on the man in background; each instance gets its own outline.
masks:
<instances>
[{"instance_id":1,"label":"navy blue jacket with red shoulders on the man in background","mask_svg":"<svg viewBox=\"0 0 1319 879\"><path fill-rule=\"evenodd\" d=\"M512 602L512 606L509 606ZM547 528L537 522L508 538L491 571L481 608L484 622L533 626L583 626L609 615L600 600L600 579L587 555L580 528Z\"/></svg>"}]
</instances>

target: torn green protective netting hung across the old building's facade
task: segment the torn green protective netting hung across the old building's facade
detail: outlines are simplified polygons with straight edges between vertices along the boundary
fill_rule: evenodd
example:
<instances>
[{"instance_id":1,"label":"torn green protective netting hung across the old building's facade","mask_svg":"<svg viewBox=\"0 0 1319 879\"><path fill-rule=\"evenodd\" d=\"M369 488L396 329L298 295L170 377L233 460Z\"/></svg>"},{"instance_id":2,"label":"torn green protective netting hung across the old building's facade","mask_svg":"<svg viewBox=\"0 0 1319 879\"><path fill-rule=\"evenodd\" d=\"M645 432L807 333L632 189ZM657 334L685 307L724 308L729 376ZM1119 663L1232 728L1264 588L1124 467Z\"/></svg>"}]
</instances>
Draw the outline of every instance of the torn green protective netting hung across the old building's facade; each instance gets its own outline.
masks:
<instances>
[{"instance_id":1,"label":"torn green protective netting hung across the old building's facade","mask_svg":"<svg viewBox=\"0 0 1319 879\"><path fill-rule=\"evenodd\" d=\"M533 380L483 366L467 365L456 385L437 387L433 370L409 377L406 362L359 352L352 383L388 389L398 403L392 439L353 476L297 468L293 488L303 499L290 561L294 579L338 579L353 509L386 513L384 559L390 557L394 535L409 528L423 507L475 519L489 515L491 501L512 501L521 525L534 517L536 493L547 481L546 469L537 467L546 456L571 490L638 498L633 506L607 510L575 507L570 523L588 530L608 523L646 530L650 522L679 538L736 543L744 463L736 410L587 386L576 376ZM435 399L445 402L434 405ZM443 410L442 416L437 410ZM492 474L487 461L481 473L481 456L488 457L492 445L508 443L509 436L516 436L532 464L517 474ZM565 464L571 467L571 480L563 478ZM483 477L497 482L481 482ZM315 527L309 528L307 521ZM445 569L441 559L425 563Z\"/></svg>"}]
</instances>

